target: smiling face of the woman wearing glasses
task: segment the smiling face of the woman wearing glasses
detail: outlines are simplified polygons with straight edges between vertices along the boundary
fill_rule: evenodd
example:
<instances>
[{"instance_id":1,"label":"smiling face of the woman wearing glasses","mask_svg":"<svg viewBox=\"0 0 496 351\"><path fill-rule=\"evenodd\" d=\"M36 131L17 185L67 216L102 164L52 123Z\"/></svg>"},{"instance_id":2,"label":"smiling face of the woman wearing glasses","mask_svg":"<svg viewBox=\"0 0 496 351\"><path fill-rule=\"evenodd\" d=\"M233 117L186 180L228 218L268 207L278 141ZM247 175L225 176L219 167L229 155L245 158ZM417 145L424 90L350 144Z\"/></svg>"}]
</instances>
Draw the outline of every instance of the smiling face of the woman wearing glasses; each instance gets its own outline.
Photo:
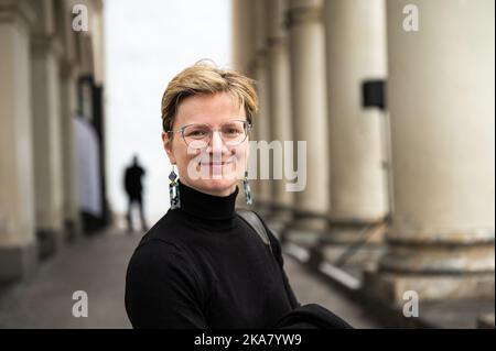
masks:
<instances>
[{"instance_id":1,"label":"smiling face of the woman wearing glasses","mask_svg":"<svg viewBox=\"0 0 496 351\"><path fill-rule=\"evenodd\" d=\"M184 125L208 124L212 130L219 131L220 127L226 130L235 120L246 120L246 113L228 92L192 96L180 103L172 129L177 131ZM162 133L169 160L177 166L183 184L215 196L227 196L236 189L236 183L247 166L248 138L231 146L226 145L220 132L214 132L208 144L200 147L202 142L191 142L190 139L188 146L181 132L171 136L172 140L168 133Z\"/></svg>"}]
</instances>

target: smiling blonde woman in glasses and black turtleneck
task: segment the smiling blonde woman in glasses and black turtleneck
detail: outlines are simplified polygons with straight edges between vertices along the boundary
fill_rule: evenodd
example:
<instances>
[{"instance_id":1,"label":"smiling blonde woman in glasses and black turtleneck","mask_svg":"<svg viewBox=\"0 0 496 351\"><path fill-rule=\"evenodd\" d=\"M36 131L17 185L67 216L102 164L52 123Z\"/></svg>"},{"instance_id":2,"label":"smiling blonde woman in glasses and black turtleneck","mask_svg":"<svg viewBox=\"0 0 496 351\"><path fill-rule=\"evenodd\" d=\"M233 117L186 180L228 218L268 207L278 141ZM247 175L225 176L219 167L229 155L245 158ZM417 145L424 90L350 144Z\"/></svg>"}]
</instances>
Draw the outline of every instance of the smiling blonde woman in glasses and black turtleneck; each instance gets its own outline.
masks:
<instances>
[{"instance_id":1,"label":"smiling blonde woman in glasses and black turtleneck","mask_svg":"<svg viewBox=\"0 0 496 351\"><path fill-rule=\"evenodd\" d=\"M270 328L298 303L270 250L235 210L249 130L252 81L198 63L162 98L163 146L173 171L171 209L142 238L128 267L126 309L134 328Z\"/></svg>"}]
</instances>

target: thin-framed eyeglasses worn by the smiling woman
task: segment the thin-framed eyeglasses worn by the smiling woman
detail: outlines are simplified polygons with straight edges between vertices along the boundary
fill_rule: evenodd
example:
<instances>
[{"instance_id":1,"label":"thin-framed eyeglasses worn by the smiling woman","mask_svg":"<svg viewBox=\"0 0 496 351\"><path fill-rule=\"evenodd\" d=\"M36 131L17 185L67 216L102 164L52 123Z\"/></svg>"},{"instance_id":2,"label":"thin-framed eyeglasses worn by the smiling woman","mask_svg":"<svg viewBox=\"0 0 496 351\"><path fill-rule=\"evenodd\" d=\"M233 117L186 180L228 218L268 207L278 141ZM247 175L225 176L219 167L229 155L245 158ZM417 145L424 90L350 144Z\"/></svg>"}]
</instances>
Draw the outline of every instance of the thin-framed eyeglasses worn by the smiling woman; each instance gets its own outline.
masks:
<instances>
[{"instance_id":1,"label":"thin-framed eyeglasses worn by the smiling woman","mask_svg":"<svg viewBox=\"0 0 496 351\"><path fill-rule=\"evenodd\" d=\"M251 129L251 124L246 120L229 120L220 124L220 128L214 130L206 123L194 123L181 127L179 130L168 133L181 132L184 142L192 149L205 149L208 146L212 135L215 131L220 132L220 138L225 145L236 146L241 144Z\"/></svg>"}]
</instances>

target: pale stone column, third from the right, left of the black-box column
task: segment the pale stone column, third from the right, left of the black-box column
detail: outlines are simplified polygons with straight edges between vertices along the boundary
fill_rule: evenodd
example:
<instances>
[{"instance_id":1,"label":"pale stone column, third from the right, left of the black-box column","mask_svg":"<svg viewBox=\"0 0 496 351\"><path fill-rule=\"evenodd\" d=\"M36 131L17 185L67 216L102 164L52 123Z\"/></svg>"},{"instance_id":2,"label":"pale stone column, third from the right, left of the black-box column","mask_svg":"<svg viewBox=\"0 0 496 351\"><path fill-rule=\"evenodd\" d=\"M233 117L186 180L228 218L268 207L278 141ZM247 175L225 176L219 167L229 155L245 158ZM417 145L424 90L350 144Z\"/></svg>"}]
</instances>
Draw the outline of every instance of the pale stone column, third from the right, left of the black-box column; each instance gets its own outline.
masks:
<instances>
[{"instance_id":1,"label":"pale stone column, third from the right, left of the black-box column","mask_svg":"<svg viewBox=\"0 0 496 351\"><path fill-rule=\"evenodd\" d=\"M328 212L328 135L325 33L321 0L291 0L288 10L294 141L306 143L306 185L295 193L300 211ZM300 166L304 165L299 160ZM323 230L322 219L299 220L296 228Z\"/></svg>"}]
</instances>

